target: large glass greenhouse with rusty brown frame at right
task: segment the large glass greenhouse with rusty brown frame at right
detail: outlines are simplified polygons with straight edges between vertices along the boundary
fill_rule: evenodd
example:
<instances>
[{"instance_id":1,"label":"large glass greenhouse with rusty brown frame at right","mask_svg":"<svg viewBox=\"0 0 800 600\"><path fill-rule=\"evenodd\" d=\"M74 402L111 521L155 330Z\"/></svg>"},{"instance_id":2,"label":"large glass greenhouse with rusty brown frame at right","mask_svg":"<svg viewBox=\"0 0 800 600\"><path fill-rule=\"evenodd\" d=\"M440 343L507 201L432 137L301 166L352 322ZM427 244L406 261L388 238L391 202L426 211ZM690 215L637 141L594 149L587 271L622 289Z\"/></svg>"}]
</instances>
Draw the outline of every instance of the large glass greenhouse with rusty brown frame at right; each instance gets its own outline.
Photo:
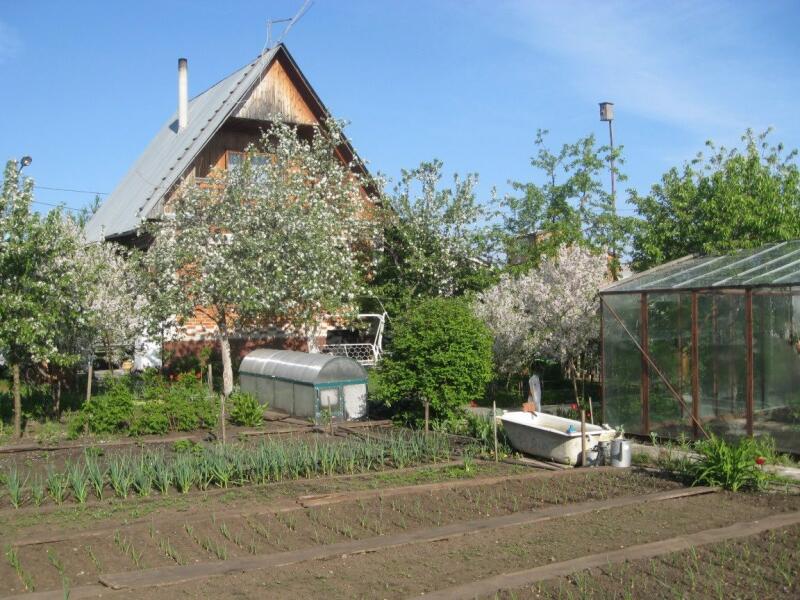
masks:
<instances>
[{"instance_id":1,"label":"large glass greenhouse with rusty brown frame at right","mask_svg":"<svg viewBox=\"0 0 800 600\"><path fill-rule=\"evenodd\" d=\"M800 452L800 240L690 256L600 292L603 422Z\"/></svg>"}]
</instances>

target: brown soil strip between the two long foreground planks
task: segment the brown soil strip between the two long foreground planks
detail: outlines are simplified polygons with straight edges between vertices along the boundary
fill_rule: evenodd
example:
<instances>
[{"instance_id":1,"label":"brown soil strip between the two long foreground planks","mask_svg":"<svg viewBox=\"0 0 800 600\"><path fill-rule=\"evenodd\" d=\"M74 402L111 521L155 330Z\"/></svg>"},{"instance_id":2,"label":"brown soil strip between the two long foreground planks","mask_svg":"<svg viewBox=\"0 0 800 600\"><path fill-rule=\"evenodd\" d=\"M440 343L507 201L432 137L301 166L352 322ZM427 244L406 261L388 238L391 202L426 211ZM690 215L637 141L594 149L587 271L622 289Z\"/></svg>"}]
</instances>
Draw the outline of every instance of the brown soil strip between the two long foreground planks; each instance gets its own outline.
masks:
<instances>
[{"instance_id":1,"label":"brown soil strip between the two long foreground planks","mask_svg":"<svg viewBox=\"0 0 800 600\"><path fill-rule=\"evenodd\" d=\"M323 590L326 598L406 598L509 571L612 552L798 508L800 499L787 496L729 493L695 496L370 554L229 574L163 589L151 588L148 596L173 598L180 593L193 598L216 598L235 589L241 597L253 598L318 597ZM792 560L792 556L796 558L796 554L790 555L784 562ZM782 588L772 585L767 588L772 592L762 597L781 597L776 591ZM581 597L574 592L573 597ZM141 594L141 590L120 592L120 597L134 598L137 594ZM557 596L558 592L555 594ZM633 597L646 596L634 594Z\"/></svg>"}]
</instances>

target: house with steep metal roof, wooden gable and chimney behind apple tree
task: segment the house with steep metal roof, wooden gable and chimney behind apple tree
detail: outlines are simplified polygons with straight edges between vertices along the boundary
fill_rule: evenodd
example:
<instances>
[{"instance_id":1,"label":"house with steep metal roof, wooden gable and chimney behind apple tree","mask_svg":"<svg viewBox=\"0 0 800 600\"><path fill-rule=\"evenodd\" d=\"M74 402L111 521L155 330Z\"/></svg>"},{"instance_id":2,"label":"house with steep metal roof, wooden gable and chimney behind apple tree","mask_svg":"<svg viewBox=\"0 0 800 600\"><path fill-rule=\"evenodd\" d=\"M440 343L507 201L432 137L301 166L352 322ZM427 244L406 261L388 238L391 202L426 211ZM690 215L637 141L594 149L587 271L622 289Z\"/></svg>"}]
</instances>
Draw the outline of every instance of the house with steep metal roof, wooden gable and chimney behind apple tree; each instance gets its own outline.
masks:
<instances>
[{"instance_id":1,"label":"house with steep metal roof, wooden gable and chimney behind apple tree","mask_svg":"<svg viewBox=\"0 0 800 600\"><path fill-rule=\"evenodd\" d=\"M299 135L324 126L328 110L282 44L189 99L188 65L178 61L178 110L164 123L119 185L86 226L89 241L109 240L146 248L142 224L159 219L177 186L189 178L205 178L212 169L235 166L247 147L261 139L272 115L296 125ZM349 142L338 148L342 161L366 169ZM365 190L365 198L374 190ZM210 319L196 314L182 324L170 343L177 355L192 353L215 338ZM232 341L233 342L233 341ZM238 352L252 347L299 348L304 342L275 326L252 332L235 344Z\"/></svg>"}]
</instances>

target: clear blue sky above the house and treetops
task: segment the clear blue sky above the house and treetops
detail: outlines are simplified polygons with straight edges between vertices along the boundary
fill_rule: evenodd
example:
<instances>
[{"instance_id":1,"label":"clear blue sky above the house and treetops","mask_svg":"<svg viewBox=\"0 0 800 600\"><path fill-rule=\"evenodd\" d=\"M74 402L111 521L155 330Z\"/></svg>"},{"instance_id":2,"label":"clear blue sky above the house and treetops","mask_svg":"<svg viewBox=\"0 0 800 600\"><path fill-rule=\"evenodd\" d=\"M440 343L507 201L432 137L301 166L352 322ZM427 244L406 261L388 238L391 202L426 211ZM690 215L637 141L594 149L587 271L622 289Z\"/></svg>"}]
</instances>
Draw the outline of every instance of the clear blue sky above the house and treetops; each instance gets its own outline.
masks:
<instances>
[{"instance_id":1,"label":"clear blue sky above the house and treetops","mask_svg":"<svg viewBox=\"0 0 800 600\"><path fill-rule=\"evenodd\" d=\"M300 4L4 2L0 158L33 156L41 186L111 191L175 110L178 57L195 95L261 51L268 17ZM534 176L539 127L553 145L605 141L601 100L616 104L626 185L640 191L748 126L800 146L799 22L800 4L778 1L315 0L286 42L374 171L436 157L479 173L488 199Z\"/></svg>"}]
</instances>

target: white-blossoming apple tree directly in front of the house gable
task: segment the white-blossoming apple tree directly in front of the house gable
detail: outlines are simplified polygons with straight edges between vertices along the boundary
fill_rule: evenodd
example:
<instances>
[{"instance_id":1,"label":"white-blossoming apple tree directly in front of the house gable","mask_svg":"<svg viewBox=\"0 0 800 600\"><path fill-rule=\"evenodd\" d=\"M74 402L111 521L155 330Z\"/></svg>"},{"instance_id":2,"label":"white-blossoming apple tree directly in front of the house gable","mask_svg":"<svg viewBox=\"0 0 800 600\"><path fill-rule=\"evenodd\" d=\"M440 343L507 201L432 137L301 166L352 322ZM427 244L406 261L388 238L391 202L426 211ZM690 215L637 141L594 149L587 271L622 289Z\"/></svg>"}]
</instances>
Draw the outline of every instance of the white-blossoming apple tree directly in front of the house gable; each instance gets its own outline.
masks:
<instances>
[{"instance_id":1,"label":"white-blossoming apple tree directly in front of the house gable","mask_svg":"<svg viewBox=\"0 0 800 600\"><path fill-rule=\"evenodd\" d=\"M148 228L151 312L215 323L225 396L233 336L281 323L313 348L322 318L354 310L375 227L343 142L337 123L309 137L276 117L239 166L185 181Z\"/></svg>"}]
</instances>

